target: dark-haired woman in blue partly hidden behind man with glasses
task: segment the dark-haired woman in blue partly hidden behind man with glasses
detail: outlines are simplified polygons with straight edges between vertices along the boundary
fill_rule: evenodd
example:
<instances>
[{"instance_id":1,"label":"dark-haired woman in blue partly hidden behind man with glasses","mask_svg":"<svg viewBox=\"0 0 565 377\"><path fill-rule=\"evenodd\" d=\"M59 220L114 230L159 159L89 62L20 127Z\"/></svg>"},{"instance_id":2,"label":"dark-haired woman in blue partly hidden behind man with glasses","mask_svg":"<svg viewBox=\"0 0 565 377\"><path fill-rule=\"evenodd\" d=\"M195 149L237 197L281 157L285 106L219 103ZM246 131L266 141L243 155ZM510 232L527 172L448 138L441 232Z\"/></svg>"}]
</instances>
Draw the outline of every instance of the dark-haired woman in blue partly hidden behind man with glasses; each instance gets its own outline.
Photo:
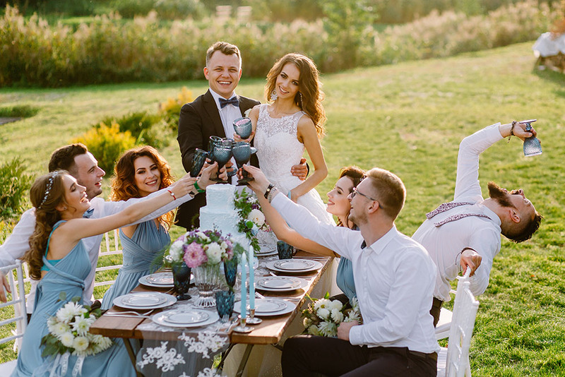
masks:
<instances>
[{"instance_id":1,"label":"dark-haired woman in blue partly hidden behind man with glasses","mask_svg":"<svg viewBox=\"0 0 565 377\"><path fill-rule=\"evenodd\" d=\"M363 176L364 171L359 167L344 167L340 171L340 177L338 181L335 182L333 190L328 192L326 211L338 217L338 227L356 229L355 224L349 219L351 204L347 196L352 193L353 188L359 184ZM338 256L338 254L330 249L302 237L294 229L288 227L283 217L280 217L278 212L271 207L268 201L263 198L259 198L259 201L261 202L261 208L265 213L266 220L278 239L295 246L297 249L311 253L324 256ZM335 280L343 294L338 294L332 297L332 299L338 299L346 304L347 301L350 301L353 297L357 297L357 293L355 292L355 280L353 279L353 269L349 259L340 258Z\"/></svg>"}]
</instances>

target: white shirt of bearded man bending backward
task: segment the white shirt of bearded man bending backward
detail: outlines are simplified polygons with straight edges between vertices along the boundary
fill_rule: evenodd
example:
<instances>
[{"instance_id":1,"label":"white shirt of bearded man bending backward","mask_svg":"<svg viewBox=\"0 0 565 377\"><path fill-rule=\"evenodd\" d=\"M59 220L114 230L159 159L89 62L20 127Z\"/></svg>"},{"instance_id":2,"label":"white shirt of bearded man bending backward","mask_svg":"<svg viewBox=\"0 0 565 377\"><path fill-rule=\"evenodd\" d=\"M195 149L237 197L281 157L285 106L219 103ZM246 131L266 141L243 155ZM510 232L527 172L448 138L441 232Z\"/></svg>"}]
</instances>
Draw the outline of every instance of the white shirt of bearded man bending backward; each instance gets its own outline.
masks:
<instances>
[{"instance_id":1,"label":"white shirt of bearded man bending backward","mask_svg":"<svg viewBox=\"0 0 565 377\"><path fill-rule=\"evenodd\" d=\"M460 205L432 219L425 220L412 239L420 242L437 266L434 297L441 301L451 299L451 280L460 272L460 252L469 247L482 256L481 265L470 278L472 294L482 294L489 285L489 275L494 256L500 251L500 218L482 205L479 184L479 155L502 139L500 123L493 124L473 133L461 141L457 160L457 181L453 201L474 203ZM477 213L487 217L469 216L448 222L440 227L434 225L446 217L461 213Z\"/></svg>"}]
</instances>

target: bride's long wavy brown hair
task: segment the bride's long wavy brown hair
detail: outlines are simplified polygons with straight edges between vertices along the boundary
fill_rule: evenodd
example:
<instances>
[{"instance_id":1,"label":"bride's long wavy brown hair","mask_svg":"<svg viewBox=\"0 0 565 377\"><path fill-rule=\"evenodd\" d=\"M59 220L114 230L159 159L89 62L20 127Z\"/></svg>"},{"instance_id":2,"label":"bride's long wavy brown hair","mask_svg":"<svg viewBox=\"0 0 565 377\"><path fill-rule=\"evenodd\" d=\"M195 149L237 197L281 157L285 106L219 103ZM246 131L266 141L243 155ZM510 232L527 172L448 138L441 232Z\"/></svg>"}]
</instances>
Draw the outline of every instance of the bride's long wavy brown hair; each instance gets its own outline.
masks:
<instances>
[{"instance_id":1,"label":"bride's long wavy brown hair","mask_svg":"<svg viewBox=\"0 0 565 377\"><path fill-rule=\"evenodd\" d=\"M323 124L326 122L326 112L322 106L324 94L321 90L322 83L319 79L318 68L308 56L292 53L278 59L267 74L265 97L267 100L270 100L270 93L275 90L277 77L283 71L283 67L289 63L297 66L300 71L299 90L295 95L295 103L314 121L318 138L322 138L324 133L326 133L323 127Z\"/></svg>"}]
</instances>

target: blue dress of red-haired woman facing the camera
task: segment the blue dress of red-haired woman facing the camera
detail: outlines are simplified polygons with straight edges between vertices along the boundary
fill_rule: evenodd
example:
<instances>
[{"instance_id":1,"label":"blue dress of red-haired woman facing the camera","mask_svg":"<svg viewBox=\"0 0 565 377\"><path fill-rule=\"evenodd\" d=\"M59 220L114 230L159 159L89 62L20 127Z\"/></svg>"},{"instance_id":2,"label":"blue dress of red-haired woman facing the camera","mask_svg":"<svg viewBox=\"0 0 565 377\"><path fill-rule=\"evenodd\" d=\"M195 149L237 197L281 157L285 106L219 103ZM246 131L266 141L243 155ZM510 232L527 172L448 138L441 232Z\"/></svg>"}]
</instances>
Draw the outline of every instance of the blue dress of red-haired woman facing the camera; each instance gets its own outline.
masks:
<instances>
[{"instance_id":1,"label":"blue dress of red-haired woman facing the camera","mask_svg":"<svg viewBox=\"0 0 565 377\"><path fill-rule=\"evenodd\" d=\"M116 282L102 299L102 309L110 309L116 297L128 294L131 289L137 287L140 277L154 273L160 268L160 265L152 265L155 253L169 246L171 241L167 230L162 225L157 227L153 220L139 224L131 239L120 229L119 238L124 264L119 269Z\"/></svg>"}]
</instances>

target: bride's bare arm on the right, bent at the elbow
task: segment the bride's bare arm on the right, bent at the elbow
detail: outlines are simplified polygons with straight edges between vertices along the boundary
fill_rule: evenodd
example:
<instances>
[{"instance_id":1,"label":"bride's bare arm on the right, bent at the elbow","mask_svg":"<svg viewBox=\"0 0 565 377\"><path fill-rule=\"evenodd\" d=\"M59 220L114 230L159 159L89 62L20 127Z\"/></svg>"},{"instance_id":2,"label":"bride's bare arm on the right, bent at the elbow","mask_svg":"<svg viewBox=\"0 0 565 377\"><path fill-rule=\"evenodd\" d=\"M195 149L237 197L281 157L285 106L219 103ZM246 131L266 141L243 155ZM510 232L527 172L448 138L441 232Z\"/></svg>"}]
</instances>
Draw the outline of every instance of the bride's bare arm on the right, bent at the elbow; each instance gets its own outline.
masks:
<instances>
[{"instance_id":1,"label":"bride's bare arm on the right, bent at the elbow","mask_svg":"<svg viewBox=\"0 0 565 377\"><path fill-rule=\"evenodd\" d=\"M298 122L297 138L308 152L312 164L314 164L314 173L311 174L302 184L299 184L290 191L290 198L296 202L300 196L318 186L321 181L328 176L328 166L326 160L323 159L322 147L314 122L309 116L302 116Z\"/></svg>"}]
</instances>

